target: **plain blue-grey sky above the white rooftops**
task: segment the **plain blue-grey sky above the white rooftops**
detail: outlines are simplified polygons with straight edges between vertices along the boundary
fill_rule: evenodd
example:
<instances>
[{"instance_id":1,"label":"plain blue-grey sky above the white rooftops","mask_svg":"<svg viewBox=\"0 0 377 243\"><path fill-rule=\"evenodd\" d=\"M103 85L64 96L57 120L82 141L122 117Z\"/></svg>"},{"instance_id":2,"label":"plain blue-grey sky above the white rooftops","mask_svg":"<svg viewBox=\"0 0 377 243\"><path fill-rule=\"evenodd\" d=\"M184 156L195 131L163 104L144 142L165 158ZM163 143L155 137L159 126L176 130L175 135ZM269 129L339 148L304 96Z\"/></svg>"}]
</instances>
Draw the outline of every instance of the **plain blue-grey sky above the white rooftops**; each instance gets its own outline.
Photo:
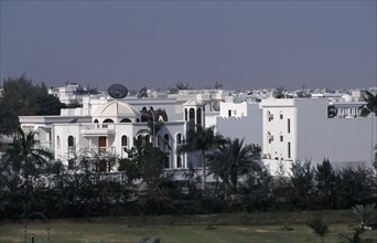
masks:
<instances>
[{"instance_id":1,"label":"plain blue-grey sky above the white rooftops","mask_svg":"<svg viewBox=\"0 0 377 243\"><path fill-rule=\"evenodd\" d=\"M3 1L1 81L376 86L376 1Z\"/></svg>"}]
</instances>

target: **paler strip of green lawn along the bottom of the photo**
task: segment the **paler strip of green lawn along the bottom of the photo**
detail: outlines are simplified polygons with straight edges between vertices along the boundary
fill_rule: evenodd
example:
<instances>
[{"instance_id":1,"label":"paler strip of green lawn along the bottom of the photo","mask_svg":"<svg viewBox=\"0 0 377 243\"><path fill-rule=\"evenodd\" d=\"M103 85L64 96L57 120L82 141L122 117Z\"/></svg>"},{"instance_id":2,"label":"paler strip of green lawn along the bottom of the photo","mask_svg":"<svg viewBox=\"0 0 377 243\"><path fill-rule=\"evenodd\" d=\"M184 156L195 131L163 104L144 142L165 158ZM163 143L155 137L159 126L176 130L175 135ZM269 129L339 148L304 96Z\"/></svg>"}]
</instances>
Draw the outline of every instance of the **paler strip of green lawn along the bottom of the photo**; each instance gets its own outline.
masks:
<instances>
[{"instance_id":1,"label":"paler strip of green lawn along the bottom of the photo","mask_svg":"<svg viewBox=\"0 0 377 243\"><path fill-rule=\"evenodd\" d=\"M166 226L128 226L109 223L78 223L56 222L51 224L51 242L139 242L144 236L160 237L162 243L176 242L320 242L312 231L305 225L291 225L292 231L282 231L280 225L219 225L214 230L206 230L203 225L166 225ZM22 225L2 224L0 230L0 242L22 242ZM35 242L44 242L45 230L42 224L29 225L28 233L35 234ZM347 225L331 225L331 233L325 242L340 242L340 233L351 234ZM363 235L364 239L375 239L377 231L369 231ZM31 242L31 237L28 237Z\"/></svg>"}]
</instances>

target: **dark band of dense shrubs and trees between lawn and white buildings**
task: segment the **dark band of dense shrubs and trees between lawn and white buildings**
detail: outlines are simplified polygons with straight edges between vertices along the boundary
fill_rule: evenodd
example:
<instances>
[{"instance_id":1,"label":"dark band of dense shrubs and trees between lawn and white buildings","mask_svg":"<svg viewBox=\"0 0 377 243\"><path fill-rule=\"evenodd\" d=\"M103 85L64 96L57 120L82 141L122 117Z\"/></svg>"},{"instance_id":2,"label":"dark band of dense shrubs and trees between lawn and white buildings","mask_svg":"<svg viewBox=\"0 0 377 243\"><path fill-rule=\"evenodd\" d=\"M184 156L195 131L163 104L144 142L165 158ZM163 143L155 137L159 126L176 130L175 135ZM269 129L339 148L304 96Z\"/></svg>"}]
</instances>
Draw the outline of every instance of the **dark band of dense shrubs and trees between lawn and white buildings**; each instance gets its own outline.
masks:
<instances>
[{"instance_id":1,"label":"dark band of dense shrubs and trees between lawn and white buildings","mask_svg":"<svg viewBox=\"0 0 377 243\"><path fill-rule=\"evenodd\" d=\"M203 190L201 177L193 169L184 180L174 181L173 172L163 171L165 155L144 139L129 150L129 159L120 160L120 172L108 173L89 169L87 163L96 161L84 157L77 158L76 170L45 160L49 154L31 149L34 146L31 138L32 135L25 134L4 145L7 154L0 163L0 219L22 219L32 212L43 212L49 218L86 218L349 209L376 201L377 184L371 170L362 167L334 170L328 160L316 167L294 162L288 177L272 177L266 168L245 170L247 160L240 160L243 169L238 170L237 184L231 182L234 187L226 187L219 180Z\"/></svg>"}]
</instances>

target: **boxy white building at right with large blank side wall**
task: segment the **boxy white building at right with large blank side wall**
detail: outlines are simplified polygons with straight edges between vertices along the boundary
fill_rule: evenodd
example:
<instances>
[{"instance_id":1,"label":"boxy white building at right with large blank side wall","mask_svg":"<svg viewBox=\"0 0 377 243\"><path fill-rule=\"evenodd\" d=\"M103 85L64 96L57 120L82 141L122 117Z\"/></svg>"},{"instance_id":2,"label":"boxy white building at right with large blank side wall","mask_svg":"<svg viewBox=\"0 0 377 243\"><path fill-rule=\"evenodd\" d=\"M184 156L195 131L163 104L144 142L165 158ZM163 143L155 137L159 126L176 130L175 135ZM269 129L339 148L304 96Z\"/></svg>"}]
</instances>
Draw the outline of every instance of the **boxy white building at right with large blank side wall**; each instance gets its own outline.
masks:
<instances>
[{"instance_id":1,"label":"boxy white building at right with large blank side wall","mask_svg":"<svg viewBox=\"0 0 377 243\"><path fill-rule=\"evenodd\" d=\"M292 161L337 167L370 166L376 142L376 117L359 117L359 103L328 103L326 98L263 99L265 162L271 170Z\"/></svg>"}]
</instances>

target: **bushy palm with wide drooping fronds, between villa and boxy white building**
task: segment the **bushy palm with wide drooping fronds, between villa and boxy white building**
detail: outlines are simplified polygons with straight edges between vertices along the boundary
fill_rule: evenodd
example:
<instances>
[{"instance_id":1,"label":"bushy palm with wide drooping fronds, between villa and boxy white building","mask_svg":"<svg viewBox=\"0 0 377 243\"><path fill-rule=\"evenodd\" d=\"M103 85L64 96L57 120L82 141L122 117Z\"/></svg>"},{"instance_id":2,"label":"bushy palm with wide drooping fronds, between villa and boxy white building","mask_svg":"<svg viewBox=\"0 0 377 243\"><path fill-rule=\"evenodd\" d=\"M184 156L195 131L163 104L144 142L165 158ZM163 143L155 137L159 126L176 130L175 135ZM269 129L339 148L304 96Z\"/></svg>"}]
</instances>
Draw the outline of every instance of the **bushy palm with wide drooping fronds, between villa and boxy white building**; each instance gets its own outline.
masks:
<instances>
[{"instance_id":1,"label":"bushy palm with wide drooping fronds, between villa and boxy white building","mask_svg":"<svg viewBox=\"0 0 377 243\"><path fill-rule=\"evenodd\" d=\"M226 186L231 183L237 189L239 176L259 168L260 151L257 145L244 146L244 139L227 138L214 155L208 156L209 170L219 176Z\"/></svg>"}]
</instances>

